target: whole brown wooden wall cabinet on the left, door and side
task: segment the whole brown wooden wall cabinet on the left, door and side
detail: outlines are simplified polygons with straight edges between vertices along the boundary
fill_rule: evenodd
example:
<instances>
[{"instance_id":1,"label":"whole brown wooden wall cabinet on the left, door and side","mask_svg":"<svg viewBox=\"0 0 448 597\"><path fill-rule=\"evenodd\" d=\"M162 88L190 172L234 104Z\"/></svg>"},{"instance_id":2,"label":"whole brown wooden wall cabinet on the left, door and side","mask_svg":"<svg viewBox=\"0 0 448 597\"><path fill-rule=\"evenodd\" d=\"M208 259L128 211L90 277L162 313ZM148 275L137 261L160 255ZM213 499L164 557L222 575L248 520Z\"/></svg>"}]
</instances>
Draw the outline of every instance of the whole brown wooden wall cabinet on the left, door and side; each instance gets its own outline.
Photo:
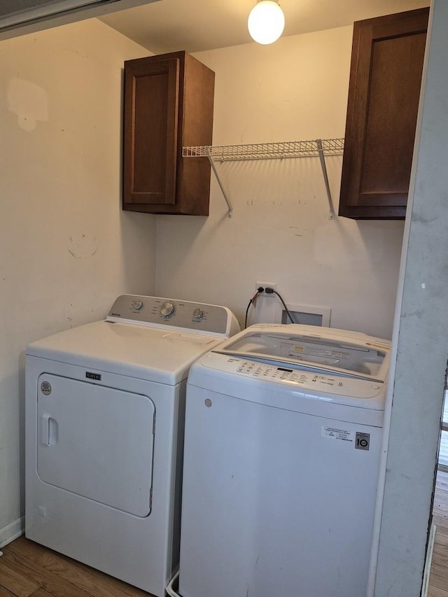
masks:
<instances>
[{"instance_id":1,"label":"whole brown wooden wall cabinet on the left, door and side","mask_svg":"<svg viewBox=\"0 0 448 597\"><path fill-rule=\"evenodd\" d=\"M123 209L209 215L214 72L186 52L125 62Z\"/></svg>"}]
</instances>

